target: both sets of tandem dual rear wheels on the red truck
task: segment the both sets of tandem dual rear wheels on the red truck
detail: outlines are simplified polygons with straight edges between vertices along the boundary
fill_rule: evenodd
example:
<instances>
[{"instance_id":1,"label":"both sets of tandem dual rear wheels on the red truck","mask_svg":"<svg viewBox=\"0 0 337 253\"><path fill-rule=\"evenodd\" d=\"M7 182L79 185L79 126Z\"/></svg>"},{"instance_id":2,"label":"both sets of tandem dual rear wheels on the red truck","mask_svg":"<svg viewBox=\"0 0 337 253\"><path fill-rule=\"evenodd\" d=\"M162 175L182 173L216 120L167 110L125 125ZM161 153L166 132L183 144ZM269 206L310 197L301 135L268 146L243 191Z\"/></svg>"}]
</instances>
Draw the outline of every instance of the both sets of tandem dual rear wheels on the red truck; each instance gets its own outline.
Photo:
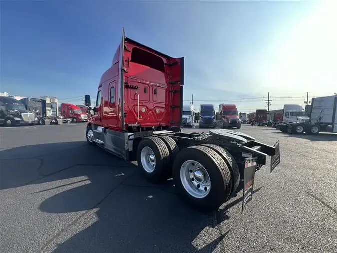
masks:
<instances>
[{"instance_id":1,"label":"both sets of tandem dual rear wheels on the red truck","mask_svg":"<svg viewBox=\"0 0 337 253\"><path fill-rule=\"evenodd\" d=\"M154 183L173 176L182 199L202 212L218 209L236 192L240 182L234 158L213 144L179 151L169 136L147 137L138 145L137 162Z\"/></svg>"}]
</instances>

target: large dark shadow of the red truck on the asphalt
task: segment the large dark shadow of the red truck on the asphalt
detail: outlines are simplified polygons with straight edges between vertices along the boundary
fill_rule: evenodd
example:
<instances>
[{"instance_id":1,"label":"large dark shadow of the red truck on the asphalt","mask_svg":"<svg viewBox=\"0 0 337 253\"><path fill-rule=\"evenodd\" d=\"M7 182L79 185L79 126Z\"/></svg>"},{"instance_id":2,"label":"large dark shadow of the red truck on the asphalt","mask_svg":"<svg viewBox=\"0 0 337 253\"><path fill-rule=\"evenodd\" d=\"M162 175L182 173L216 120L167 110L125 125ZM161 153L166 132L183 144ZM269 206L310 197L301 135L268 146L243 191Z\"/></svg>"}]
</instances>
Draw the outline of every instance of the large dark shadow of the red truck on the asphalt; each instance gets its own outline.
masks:
<instances>
[{"instance_id":1,"label":"large dark shadow of the red truck on the asphalt","mask_svg":"<svg viewBox=\"0 0 337 253\"><path fill-rule=\"evenodd\" d=\"M45 196L36 212L77 216L38 252L213 252L230 233L219 224L242 201L199 213L177 197L172 180L151 184L135 165L85 141L22 146L0 155L2 192L27 187L27 197Z\"/></svg>"}]
</instances>

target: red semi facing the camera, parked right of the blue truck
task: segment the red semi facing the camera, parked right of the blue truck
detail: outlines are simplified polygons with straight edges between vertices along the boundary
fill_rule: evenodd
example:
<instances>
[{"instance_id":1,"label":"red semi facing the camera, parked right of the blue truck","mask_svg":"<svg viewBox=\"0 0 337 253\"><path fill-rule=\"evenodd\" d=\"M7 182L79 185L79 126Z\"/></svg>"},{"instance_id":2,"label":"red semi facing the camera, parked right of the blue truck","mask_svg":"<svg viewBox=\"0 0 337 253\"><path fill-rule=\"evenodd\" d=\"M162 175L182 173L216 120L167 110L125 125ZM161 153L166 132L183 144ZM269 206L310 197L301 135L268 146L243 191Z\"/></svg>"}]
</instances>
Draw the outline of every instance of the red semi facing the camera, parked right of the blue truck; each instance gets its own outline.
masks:
<instances>
[{"instance_id":1,"label":"red semi facing the camera, parked right of the blue truck","mask_svg":"<svg viewBox=\"0 0 337 253\"><path fill-rule=\"evenodd\" d=\"M241 119L239 117L238 109L235 104L219 104L217 125L219 128L241 128Z\"/></svg>"}]
</instances>

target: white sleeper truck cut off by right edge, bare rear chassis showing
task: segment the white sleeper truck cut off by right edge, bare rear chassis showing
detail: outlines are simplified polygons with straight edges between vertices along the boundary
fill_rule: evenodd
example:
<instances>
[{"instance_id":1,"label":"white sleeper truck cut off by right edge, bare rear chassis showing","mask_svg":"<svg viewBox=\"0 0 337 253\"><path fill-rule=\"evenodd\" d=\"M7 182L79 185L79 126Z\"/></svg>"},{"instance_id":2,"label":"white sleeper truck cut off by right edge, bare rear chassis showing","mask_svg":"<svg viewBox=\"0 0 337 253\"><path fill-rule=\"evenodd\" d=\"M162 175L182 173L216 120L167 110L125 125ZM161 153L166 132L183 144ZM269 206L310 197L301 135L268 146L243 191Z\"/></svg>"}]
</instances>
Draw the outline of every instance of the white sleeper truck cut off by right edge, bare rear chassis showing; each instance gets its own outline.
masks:
<instances>
[{"instance_id":1,"label":"white sleeper truck cut off by right edge, bare rear chassis showing","mask_svg":"<svg viewBox=\"0 0 337 253\"><path fill-rule=\"evenodd\" d=\"M282 132L301 134L318 134L320 131L337 133L337 95L315 97L311 101L309 120L282 123L279 129ZM304 113L304 112L303 112Z\"/></svg>"}]
</instances>

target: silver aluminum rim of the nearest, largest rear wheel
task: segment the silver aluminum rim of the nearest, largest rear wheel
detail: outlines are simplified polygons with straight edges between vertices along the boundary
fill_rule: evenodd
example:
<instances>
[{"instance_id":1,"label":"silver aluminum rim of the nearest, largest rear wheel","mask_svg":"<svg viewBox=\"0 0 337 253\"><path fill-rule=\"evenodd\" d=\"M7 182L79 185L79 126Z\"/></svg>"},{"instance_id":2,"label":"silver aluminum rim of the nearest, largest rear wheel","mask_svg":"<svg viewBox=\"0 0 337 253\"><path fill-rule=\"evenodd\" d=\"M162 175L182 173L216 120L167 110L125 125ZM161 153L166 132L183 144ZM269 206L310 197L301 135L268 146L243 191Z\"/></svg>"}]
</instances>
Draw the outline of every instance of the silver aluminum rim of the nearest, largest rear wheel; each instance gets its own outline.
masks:
<instances>
[{"instance_id":1,"label":"silver aluminum rim of the nearest, largest rear wheel","mask_svg":"<svg viewBox=\"0 0 337 253\"><path fill-rule=\"evenodd\" d=\"M199 162L188 160L180 167L180 180L192 197L204 198L211 190L211 180L207 170Z\"/></svg>"}]
</instances>

